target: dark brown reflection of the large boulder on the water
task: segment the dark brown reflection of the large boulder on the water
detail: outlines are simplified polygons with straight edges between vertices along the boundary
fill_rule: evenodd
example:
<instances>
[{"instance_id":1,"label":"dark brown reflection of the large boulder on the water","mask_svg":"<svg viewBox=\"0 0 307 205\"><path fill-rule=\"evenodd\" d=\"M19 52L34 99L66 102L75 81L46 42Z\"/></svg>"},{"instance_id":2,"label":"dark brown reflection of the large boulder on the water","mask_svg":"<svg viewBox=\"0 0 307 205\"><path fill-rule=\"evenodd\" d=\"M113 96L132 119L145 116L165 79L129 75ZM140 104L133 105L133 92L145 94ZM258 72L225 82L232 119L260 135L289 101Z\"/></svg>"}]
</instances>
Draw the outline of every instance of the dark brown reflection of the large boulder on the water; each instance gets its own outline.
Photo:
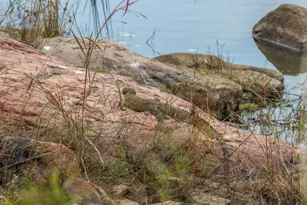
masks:
<instances>
[{"instance_id":1,"label":"dark brown reflection of the large boulder on the water","mask_svg":"<svg viewBox=\"0 0 307 205\"><path fill-rule=\"evenodd\" d=\"M283 75L299 75L307 72L307 54L281 47L267 40L255 39L259 50Z\"/></svg>"}]
</instances>

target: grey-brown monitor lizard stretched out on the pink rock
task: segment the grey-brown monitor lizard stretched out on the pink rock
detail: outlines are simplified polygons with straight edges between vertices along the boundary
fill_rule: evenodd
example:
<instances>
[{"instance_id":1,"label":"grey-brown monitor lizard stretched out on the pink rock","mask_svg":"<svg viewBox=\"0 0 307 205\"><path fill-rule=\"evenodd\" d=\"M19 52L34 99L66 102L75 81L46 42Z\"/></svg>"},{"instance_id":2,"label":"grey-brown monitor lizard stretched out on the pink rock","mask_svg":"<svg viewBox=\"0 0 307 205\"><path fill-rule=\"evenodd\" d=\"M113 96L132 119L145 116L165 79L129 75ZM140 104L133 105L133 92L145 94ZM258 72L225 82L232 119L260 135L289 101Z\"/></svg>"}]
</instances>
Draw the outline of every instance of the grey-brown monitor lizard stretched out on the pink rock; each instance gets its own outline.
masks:
<instances>
[{"instance_id":1,"label":"grey-brown monitor lizard stretched out on the pink rock","mask_svg":"<svg viewBox=\"0 0 307 205\"><path fill-rule=\"evenodd\" d=\"M160 100L138 97L136 91L130 87L124 88L122 92L124 98L119 102L122 110L126 110L128 107L137 112L150 111L151 114L156 116L158 121L163 121L164 115L169 115L174 119L186 121L189 124L196 124L200 129L205 131L210 138L214 138L220 142L223 146L224 162L227 160L227 148L222 134L218 133L205 119L195 116L183 109L162 103Z\"/></svg>"}]
</instances>

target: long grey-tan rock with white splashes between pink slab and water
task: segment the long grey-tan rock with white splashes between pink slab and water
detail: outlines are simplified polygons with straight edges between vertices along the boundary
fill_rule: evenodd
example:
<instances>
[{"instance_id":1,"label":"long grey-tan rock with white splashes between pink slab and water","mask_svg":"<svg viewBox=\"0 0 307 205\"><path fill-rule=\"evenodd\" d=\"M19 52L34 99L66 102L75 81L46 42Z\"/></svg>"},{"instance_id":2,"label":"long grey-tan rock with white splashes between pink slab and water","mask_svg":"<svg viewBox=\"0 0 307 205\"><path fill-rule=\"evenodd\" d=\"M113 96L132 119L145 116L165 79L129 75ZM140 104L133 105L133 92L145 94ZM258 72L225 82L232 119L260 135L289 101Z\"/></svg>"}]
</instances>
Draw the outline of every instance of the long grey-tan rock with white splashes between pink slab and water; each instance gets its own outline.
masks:
<instances>
[{"instance_id":1,"label":"long grey-tan rock with white splashes between pink slab and water","mask_svg":"<svg viewBox=\"0 0 307 205\"><path fill-rule=\"evenodd\" d=\"M224 119L229 110L238 109L243 92L248 89L242 88L242 85L249 85L259 92L269 90L276 93L283 89L283 76L278 71L235 65L238 68L236 70L237 77L233 80L223 75L195 72L193 65L190 65L195 64L191 61L192 58L201 55L199 57L201 60L204 56L205 58L214 58L214 56L176 53L148 59L122 45L114 42L106 43L106 45L100 45L102 50L106 48L103 54L100 49L93 51L91 68L129 76L139 84L153 86L186 101L192 101L194 105L212 113L217 119ZM84 57L82 57L83 54L75 39L51 38L46 40L45 46L49 48L48 51L45 51L46 53L59 57L74 66L83 66L82 59ZM179 64L165 64L167 61L161 60L163 57L171 55L184 55L182 58L189 58L189 62L183 66L182 61L177 60L181 63L180 66L177 66ZM223 62L223 64L225 63Z\"/></svg>"}]
</instances>

